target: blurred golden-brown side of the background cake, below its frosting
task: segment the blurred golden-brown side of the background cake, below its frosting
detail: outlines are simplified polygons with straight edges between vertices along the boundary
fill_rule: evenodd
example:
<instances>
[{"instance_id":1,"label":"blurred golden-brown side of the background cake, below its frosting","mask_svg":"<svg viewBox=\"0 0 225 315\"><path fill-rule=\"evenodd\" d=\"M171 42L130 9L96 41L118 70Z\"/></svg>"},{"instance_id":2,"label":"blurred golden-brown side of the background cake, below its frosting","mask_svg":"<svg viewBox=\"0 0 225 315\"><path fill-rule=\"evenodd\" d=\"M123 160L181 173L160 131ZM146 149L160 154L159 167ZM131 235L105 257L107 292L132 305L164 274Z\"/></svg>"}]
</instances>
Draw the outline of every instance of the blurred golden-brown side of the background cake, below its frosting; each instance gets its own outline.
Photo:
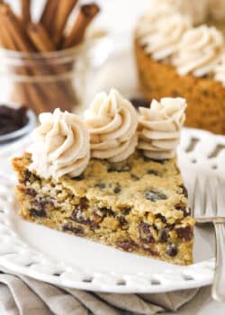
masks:
<instances>
[{"instance_id":1,"label":"blurred golden-brown side of the background cake, below its frosting","mask_svg":"<svg viewBox=\"0 0 225 315\"><path fill-rule=\"evenodd\" d=\"M179 76L176 68L150 58L134 42L141 92L150 101L162 97L184 97L188 127L225 134L225 88L211 77Z\"/></svg>"}]
</instances>

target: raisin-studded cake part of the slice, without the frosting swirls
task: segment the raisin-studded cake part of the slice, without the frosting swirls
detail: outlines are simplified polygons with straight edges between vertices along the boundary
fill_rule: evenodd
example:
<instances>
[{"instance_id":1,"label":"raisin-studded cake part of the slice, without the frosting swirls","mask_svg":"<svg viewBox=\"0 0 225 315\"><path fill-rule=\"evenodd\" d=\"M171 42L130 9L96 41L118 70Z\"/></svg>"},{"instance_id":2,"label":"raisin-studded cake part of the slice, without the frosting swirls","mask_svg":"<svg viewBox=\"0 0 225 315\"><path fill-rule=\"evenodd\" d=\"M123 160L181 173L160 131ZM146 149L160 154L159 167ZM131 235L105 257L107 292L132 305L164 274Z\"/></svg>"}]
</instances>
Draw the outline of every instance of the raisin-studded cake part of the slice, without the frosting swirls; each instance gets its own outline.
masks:
<instances>
[{"instance_id":1,"label":"raisin-studded cake part of the slice, without the frosting swirls","mask_svg":"<svg viewBox=\"0 0 225 315\"><path fill-rule=\"evenodd\" d=\"M136 151L127 160L91 159L84 174L58 181L31 172L16 157L16 194L26 220L175 264L193 262L193 225L175 158Z\"/></svg>"}]
</instances>

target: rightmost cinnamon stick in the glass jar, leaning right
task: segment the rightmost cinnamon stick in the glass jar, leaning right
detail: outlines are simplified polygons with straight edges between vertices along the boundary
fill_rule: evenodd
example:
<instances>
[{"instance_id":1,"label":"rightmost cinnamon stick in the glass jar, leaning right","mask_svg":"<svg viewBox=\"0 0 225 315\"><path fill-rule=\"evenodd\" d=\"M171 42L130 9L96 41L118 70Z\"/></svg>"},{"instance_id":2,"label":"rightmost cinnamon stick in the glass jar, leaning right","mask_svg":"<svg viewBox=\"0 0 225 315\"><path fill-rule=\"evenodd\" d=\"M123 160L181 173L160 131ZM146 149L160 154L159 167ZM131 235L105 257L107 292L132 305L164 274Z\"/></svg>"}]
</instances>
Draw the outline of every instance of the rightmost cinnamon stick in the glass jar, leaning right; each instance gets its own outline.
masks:
<instances>
[{"instance_id":1,"label":"rightmost cinnamon stick in the glass jar, leaning right","mask_svg":"<svg viewBox=\"0 0 225 315\"><path fill-rule=\"evenodd\" d=\"M84 4L79 8L76 21L62 43L62 48L67 49L79 44L85 36L85 29L92 22L94 16L100 11L97 4Z\"/></svg>"}]
</instances>

